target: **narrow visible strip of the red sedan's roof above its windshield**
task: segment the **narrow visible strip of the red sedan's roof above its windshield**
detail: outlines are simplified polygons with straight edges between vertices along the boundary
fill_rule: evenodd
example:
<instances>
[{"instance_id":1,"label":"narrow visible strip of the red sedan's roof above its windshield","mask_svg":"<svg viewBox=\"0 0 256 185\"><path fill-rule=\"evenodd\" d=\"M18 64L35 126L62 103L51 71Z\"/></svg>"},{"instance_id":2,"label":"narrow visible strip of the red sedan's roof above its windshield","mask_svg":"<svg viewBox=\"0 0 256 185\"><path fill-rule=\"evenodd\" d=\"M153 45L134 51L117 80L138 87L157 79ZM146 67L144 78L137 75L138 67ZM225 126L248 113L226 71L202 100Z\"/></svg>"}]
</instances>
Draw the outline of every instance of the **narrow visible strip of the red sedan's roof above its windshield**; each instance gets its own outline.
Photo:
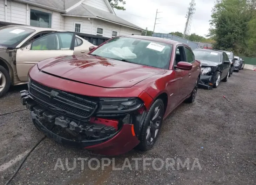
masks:
<instances>
[{"instance_id":1,"label":"narrow visible strip of the red sedan's roof above its windshield","mask_svg":"<svg viewBox=\"0 0 256 185\"><path fill-rule=\"evenodd\" d=\"M139 39L144 39L144 40L151 40L151 41L155 41L155 42L162 42L165 44L172 44L174 46L176 45L184 45L190 48L189 45L184 44L182 42L177 42L175 40L169 40L166 38L158 38L158 37L149 37L149 36L142 36L142 35L124 35L124 36L120 36L120 37L130 37L130 38L139 38Z\"/></svg>"}]
</instances>

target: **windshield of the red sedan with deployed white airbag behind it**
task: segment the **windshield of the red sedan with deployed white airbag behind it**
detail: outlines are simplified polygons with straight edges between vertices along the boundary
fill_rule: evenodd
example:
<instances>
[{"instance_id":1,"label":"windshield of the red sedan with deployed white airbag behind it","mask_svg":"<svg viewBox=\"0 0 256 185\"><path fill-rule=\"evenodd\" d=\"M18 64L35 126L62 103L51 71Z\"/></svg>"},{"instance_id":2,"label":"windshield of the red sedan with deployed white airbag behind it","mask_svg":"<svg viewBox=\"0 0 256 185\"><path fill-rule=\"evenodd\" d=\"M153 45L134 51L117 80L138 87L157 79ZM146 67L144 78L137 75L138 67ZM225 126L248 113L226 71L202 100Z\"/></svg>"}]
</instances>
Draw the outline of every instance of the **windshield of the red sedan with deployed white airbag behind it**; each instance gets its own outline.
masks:
<instances>
[{"instance_id":1,"label":"windshield of the red sedan with deployed white airbag behind it","mask_svg":"<svg viewBox=\"0 0 256 185\"><path fill-rule=\"evenodd\" d=\"M168 69L173 45L150 40L116 37L102 45L92 55L134 64Z\"/></svg>"}]
</instances>

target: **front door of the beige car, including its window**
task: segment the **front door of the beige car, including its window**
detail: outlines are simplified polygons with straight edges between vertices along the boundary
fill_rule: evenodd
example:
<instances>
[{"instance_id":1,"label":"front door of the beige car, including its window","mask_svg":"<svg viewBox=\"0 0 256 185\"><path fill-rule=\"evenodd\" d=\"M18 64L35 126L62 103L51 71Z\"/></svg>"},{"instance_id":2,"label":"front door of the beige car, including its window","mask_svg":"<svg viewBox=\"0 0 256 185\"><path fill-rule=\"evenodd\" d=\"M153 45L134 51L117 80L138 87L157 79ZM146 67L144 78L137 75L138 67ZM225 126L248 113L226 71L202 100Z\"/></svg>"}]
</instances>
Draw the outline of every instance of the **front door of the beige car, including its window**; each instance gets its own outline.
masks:
<instances>
[{"instance_id":1,"label":"front door of the beige car, including its window","mask_svg":"<svg viewBox=\"0 0 256 185\"><path fill-rule=\"evenodd\" d=\"M28 70L37 62L58 56L73 55L75 34L55 32L29 43L17 50L16 67L20 81L27 81Z\"/></svg>"}]
</instances>

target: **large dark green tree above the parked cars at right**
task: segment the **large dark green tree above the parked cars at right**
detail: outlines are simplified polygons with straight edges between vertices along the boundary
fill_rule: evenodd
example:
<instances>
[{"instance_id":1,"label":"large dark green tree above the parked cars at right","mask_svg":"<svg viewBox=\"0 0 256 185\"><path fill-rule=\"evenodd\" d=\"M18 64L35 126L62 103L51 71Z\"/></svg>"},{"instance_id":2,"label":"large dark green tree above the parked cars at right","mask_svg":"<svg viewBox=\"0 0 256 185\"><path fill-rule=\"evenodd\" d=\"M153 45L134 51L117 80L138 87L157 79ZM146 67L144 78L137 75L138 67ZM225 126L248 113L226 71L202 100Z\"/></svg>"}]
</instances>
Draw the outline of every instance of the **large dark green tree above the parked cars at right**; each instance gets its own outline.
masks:
<instances>
[{"instance_id":1,"label":"large dark green tree above the parked cars at right","mask_svg":"<svg viewBox=\"0 0 256 185\"><path fill-rule=\"evenodd\" d=\"M248 23L255 0L217 0L212 10L209 36L216 40L215 49L245 54L250 38Z\"/></svg>"}]
</instances>

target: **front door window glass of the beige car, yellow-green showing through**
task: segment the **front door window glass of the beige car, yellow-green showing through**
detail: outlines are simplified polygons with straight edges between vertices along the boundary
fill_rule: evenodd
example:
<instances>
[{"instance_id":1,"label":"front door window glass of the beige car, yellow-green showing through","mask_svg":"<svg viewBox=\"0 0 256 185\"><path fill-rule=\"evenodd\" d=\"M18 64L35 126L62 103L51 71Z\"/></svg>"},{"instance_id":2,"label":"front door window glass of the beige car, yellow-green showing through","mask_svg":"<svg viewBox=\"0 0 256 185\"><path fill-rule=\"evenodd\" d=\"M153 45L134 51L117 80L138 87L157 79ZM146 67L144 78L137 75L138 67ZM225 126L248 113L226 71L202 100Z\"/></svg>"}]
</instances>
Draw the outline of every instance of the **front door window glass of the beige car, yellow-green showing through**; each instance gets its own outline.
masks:
<instances>
[{"instance_id":1,"label":"front door window glass of the beige car, yellow-green showing through","mask_svg":"<svg viewBox=\"0 0 256 185\"><path fill-rule=\"evenodd\" d=\"M31 50L70 50L73 33L54 33L32 42Z\"/></svg>"}]
</instances>

